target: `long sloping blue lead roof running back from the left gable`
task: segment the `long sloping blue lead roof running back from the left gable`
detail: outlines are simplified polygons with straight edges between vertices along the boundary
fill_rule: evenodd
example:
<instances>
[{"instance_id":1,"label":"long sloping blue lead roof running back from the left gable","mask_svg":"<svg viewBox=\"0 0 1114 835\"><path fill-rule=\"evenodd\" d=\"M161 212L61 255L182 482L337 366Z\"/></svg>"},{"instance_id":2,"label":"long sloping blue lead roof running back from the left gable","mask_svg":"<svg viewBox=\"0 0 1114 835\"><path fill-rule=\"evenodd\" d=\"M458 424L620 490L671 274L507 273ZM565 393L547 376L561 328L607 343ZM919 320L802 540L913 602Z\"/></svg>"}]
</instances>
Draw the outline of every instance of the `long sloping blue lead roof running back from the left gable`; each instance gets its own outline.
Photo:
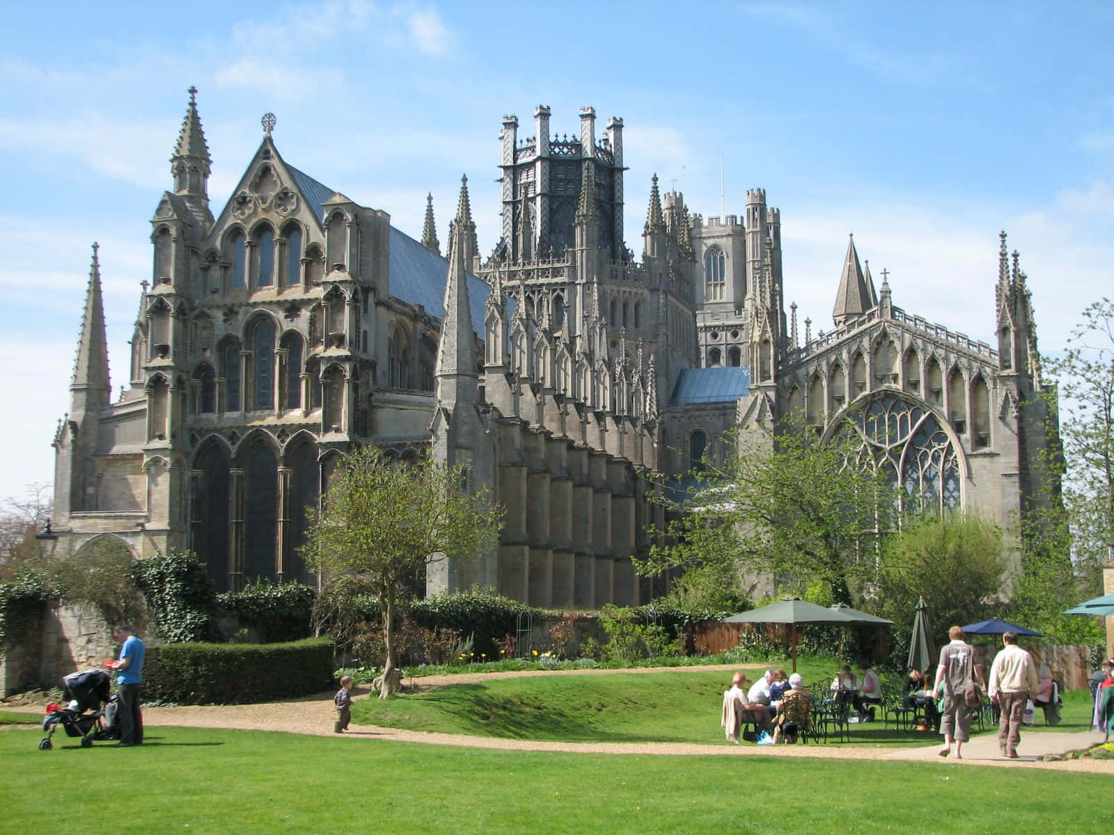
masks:
<instances>
[{"instance_id":1,"label":"long sloping blue lead roof running back from the left gable","mask_svg":"<svg viewBox=\"0 0 1114 835\"><path fill-rule=\"evenodd\" d=\"M302 196L320 219L325 217L324 204L335 194L310 175L286 166ZM427 249L403 232L391 227L390 237L391 295L407 304L421 305L437 318L444 318L444 285L449 278L449 262ZM488 286L475 275L468 275L468 303L472 313L472 330L483 338L483 313Z\"/></svg>"}]
</instances>

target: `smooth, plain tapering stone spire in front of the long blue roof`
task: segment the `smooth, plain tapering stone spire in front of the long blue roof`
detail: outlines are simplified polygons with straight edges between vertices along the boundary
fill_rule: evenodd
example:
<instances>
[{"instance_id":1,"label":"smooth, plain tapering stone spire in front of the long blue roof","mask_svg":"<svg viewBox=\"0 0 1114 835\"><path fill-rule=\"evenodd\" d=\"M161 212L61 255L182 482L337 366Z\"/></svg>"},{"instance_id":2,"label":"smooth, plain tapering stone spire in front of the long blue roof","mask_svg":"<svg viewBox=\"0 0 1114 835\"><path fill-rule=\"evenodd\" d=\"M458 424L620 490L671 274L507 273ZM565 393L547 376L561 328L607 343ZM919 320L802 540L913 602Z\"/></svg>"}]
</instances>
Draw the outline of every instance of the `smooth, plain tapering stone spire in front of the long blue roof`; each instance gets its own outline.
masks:
<instances>
[{"instance_id":1,"label":"smooth, plain tapering stone spire in front of the long blue roof","mask_svg":"<svg viewBox=\"0 0 1114 835\"><path fill-rule=\"evenodd\" d=\"M468 193L461 188L460 207L449 227L449 275L444 283L444 317L437 351L438 405L452 410L460 402L475 403L478 390L476 335L468 299L468 272L465 266L469 217ZM475 233L473 233L475 234Z\"/></svg>"}]
</instances>

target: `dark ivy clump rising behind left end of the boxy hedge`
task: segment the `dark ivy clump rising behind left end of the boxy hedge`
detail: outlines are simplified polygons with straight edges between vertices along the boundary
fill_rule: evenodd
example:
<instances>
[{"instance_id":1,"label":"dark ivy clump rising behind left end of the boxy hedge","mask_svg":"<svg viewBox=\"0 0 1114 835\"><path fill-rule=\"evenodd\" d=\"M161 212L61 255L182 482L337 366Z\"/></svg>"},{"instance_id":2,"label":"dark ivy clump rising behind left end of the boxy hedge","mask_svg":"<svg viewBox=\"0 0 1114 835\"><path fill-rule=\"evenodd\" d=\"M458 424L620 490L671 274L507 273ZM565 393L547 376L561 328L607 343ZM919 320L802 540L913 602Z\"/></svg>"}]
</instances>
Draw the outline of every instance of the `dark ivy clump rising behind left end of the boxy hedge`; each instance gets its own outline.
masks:
<instances>
[{"instance_id":1,"label":"dark ivy clump rising behind left end of the boxy hedge","mask_svg":"<svg viewBox=\"0 0 1114 835\"><path fill-rule=\"evenodd\" d=\"M213 640L216 591L193 551L157 553L131 563L131 581L147 601L152 628L168 644Z\"/></svg>"}]
</instances>

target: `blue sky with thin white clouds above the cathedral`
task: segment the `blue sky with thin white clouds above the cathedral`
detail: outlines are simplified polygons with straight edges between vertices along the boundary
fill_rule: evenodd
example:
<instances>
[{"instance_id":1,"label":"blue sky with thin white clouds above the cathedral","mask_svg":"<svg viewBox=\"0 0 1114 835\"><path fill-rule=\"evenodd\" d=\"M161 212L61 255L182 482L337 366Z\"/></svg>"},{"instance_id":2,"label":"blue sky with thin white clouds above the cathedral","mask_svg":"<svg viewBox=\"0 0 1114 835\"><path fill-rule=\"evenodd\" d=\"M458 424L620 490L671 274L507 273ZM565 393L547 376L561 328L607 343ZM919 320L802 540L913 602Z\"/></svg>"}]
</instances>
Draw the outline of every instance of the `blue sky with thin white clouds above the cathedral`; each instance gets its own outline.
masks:
<instances>
[{"instance_id":1,"label":"blue sky with thin white clouds above the cathedral","mask_svg":"<svg viewBox=\"0 0 1114 835\"><path fill-rule=\"evenodd\" d=\"M1022 253L1040 346L1110 293L1114 7L197 0L12 4L0 30L0 497L52 479L90 244L114 386L127 375L149 219L186 94L213 156L214 214L277 116L292 165L418 236L448 237L467 173L480 248L498 226L498 132L538 104L553 130L625 122L626 239L649 179L692 210L782 212L786 302L813 332L856 234L895 304L989 340L998 230ZM551 17L559 12L560 18Z\"/></svg>"}]
</instances>

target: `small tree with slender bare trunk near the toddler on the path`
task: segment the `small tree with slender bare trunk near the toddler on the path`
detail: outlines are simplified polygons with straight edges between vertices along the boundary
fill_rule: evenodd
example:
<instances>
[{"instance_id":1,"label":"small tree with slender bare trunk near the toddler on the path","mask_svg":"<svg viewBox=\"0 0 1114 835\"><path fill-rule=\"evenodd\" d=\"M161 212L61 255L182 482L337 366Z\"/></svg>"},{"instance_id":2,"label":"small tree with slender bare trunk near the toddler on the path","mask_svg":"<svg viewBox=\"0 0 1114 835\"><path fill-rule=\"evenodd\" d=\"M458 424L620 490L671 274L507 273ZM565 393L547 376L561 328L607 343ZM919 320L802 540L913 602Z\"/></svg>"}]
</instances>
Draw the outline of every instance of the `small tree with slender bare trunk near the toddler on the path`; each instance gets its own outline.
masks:
<instances>
[{"instance_id":1,"label":"small tree with slender bare trunk near the toddler on the path","mask_svg":"<svg viewBox=\"0 0 1114 835\"><path fill-rule=\"evenodd\" d=\"M429 460L392 465L372 446L345 458L311 527L305 553L326 577L348 576L379 600L387 660L382 698L398 667L394 627L408 583L432 562L491 551L500 511L488 491L470 492L463 468Z\"/></svg>"}]
</instances>

